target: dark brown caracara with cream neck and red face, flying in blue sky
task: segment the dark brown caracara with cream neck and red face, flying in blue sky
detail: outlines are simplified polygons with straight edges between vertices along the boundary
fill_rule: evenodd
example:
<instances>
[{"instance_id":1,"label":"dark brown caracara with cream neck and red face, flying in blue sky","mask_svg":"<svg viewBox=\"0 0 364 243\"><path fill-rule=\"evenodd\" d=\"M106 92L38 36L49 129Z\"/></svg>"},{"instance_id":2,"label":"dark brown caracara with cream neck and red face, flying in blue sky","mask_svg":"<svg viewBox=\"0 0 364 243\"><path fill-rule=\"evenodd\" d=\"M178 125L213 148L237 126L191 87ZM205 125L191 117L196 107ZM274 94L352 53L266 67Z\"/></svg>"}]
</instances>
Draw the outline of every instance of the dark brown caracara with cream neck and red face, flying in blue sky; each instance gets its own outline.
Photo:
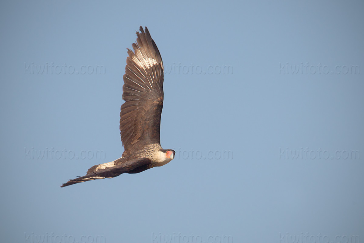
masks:
<instances>
[{"instance_id":1,"label":"dark brown caracara with cream neck and red face, flying in blue sky","mask_svg":"<svg viewBox=\"0 0 364 243\"><path fill-rule=\"evenodd\" d=\"M139 32L140 31L140 32ZM173 149L162 149L159 137L163 107L163 62L147 27L137 31L134 51L128 50L120 108L120 136L124 146L121 158L94 165L85 176L69 180L68 185L112 178L122 173L139 173L173 160Z\"/></svg>"}]
</instances>

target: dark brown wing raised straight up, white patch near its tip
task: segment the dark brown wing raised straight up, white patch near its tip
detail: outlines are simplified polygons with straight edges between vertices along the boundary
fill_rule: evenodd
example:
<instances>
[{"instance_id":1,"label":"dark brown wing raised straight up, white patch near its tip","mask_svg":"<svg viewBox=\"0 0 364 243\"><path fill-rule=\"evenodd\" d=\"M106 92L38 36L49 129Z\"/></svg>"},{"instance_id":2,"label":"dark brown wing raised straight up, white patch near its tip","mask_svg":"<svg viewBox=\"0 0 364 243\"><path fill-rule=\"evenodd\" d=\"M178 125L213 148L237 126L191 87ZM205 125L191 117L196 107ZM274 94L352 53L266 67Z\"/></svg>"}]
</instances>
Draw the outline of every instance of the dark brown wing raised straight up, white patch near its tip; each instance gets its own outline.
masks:
<instances>
[{"instance_id":1,"label":"dark brown wing raised straight up, white patch near its tip","mask_svg":"<svg viewBox=\"0 0 364 243\"><path fill-rule=\"evenodd\" d=\"M151 143L160 144L163 107L163 62L147 27L137 31L134 52L128 49L123 99L120 109L120 137L123 157Z\"/></svg>"}]
</instances>

